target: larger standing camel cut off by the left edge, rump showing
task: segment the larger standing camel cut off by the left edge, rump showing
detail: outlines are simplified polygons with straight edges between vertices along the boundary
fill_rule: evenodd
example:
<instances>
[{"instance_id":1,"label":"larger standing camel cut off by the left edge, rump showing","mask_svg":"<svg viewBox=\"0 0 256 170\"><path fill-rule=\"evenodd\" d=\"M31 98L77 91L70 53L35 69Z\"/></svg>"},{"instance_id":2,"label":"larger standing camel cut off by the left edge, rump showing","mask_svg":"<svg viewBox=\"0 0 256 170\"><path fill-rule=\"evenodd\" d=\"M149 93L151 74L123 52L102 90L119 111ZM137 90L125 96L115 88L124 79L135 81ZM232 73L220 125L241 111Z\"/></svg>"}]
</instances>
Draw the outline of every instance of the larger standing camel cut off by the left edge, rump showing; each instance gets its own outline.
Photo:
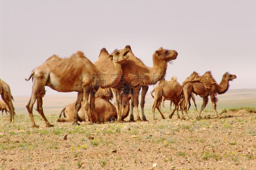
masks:
<instances>
[{"instance_id":1,"label":"larger standing camel cut off by the left edge, rump showing","mask_svg":"<svg viewBox=\"0 0 256 170\"><path fill-rule=\"evenodd\" d=\"M14 122L14 107L12 100L14 101L10 86L0 79L0 94L4 102L6 103L8 109L10 110L10 122Z\"/></svg>"}]
</instances>

